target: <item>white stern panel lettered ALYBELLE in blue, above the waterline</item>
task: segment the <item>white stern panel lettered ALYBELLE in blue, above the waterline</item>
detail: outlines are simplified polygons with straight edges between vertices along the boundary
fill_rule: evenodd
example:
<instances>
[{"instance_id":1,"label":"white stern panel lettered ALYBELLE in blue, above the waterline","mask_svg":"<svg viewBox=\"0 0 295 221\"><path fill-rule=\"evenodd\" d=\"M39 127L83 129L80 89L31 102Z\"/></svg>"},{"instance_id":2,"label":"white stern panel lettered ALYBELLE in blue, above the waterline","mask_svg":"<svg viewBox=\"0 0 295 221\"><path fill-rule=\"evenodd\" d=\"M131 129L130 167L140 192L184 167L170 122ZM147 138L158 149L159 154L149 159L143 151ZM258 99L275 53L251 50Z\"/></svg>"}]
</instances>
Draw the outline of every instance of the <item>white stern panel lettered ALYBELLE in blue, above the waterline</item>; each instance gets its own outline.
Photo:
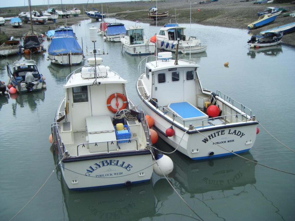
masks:
<instances>
[{"instance_id":1,"label":"white stern panel lettered ALYBELLE in blue, above the waterline","mask_svg":"<svg viewBox=\"0 0 295 221\"><path fill-rule=\"evenodd\" d=\"M65 159L60 169L69 189L94 189L147 182L153 173L153 160L150 151L130 151L93 159Z\"/></svg>"}]
</instances>

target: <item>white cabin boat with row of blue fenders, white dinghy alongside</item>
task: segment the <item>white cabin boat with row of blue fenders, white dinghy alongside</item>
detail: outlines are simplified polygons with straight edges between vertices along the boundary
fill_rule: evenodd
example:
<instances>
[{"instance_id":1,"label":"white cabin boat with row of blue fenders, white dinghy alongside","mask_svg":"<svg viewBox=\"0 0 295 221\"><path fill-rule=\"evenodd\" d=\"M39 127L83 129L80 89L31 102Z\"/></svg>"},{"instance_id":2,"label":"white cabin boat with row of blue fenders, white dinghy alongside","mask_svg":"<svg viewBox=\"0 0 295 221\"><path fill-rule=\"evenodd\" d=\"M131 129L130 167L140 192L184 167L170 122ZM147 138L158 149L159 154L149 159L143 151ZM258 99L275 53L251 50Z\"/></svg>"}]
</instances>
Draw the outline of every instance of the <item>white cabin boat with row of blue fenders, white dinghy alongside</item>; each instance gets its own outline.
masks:
<instances>
[{"instance_id":1,"label":"white cabin boat with row of blue fenders, white dinghy alongside","mask_svg":"<svg viewBox=\"0 0 295 221\"><path fill-rule=\"evenodd\" d=\"M183 54L186 53L201 53L207 50L207 45L202 46L200 39L194 36L186 37L184 33L185 27L179 27L178 24L165 24L160 29L159 34L156 34L156 45L158 49L165 51L176 51L176 44L178 44L178 51ZM152 38L153 38L152 37Z\"/></svg>"}]
</instances>

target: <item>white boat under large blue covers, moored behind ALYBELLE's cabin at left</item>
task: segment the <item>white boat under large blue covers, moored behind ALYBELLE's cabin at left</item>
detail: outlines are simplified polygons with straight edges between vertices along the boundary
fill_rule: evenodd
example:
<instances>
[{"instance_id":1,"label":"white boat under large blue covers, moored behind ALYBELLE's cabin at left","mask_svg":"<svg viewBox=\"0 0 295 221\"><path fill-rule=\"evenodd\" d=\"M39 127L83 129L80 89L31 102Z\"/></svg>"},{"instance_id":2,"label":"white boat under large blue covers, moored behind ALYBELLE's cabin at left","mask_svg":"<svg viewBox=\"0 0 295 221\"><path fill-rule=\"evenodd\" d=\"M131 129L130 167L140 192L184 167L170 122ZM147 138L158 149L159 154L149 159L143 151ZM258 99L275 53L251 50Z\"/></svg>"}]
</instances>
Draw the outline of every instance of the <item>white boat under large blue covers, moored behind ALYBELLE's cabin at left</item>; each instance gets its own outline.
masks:
<instances>
[{"instance_id":1,"label":"white boat under large blue covers, moored behind ALYBELLE's cabin at left","mask_svg":"<svg viewBox=\"0 0 295 221\"><path fill-rule=\"evenodd\" d=\"M77 65L84 55L71 27L59 26L48 46L47 60L60 65Z\"/></svg>"}]
</instances>

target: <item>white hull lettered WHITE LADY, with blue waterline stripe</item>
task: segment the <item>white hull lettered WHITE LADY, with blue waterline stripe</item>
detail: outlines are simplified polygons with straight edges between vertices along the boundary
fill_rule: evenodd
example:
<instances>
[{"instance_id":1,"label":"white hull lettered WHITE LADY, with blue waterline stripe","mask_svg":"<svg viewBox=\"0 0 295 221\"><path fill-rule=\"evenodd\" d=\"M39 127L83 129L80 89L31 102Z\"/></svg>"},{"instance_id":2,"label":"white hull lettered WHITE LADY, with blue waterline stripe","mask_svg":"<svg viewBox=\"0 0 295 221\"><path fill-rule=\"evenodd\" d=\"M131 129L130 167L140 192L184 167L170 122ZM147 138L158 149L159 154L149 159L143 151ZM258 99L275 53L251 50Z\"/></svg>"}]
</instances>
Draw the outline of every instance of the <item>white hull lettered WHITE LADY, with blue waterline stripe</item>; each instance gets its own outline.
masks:
<instances>
[{"instance_id":1,"label":"white hull lettered WHITE LADY, with blue waterline stripe","mask_svg":"<svg viewBox=\"0 0 295 221\"><path fill-rule=\"evenodd\" d=\"M199 129L201 133L192 134L185 133L183 128L173 126L175 135L167 137L165 131L171 127L172 121L155 111L145 101L141 103L141 107L146 115L152 116L154 128L159 132L158 135L174 149L177 148L178 151L193 160L230 156L232 152L236 154L247 152L252 148L256 139L256 122L241 123L240 126L233 127L224 125L218 128ZM215 144L219 144L229 151ZM210 156L210 153L213 155Z\"/></svg>"}]
</instances>

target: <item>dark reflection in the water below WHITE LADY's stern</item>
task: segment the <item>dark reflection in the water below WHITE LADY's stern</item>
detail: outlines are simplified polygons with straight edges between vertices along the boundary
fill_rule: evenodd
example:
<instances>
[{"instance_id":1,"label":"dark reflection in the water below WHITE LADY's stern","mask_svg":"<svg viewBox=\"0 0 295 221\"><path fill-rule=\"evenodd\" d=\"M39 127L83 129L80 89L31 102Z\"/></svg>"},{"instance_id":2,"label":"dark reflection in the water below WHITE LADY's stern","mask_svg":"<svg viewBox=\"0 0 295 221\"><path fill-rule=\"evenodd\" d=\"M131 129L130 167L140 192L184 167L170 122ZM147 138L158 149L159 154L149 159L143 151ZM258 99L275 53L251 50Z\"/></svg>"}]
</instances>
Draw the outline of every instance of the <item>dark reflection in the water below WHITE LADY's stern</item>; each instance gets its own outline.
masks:
<instances>
[{"instance_id":1,"label":"dark reflection in the water below WHITE LADY's stern","mask_svg":"<svg viewBox=\"0 0 295 221\"><path fill-rule=\"evenodd\" d=\"M156 146L165 152L174 150L160 138ZM220 195L220 191L256 183L256 164L250 162L254 160L249 152L240 154L249 160L232 155L220 159L194 161L177 151L167 155L170 156L174 164L174 169L169 177L175 180L173 186L178 187L181 192L190 194L211 192L210 196L212 196L214 194L212 191L218 191L216 196L214 194L214 199L216 199L220 196L224 197L224 195Z\"/></svg>"}]
</instances>

